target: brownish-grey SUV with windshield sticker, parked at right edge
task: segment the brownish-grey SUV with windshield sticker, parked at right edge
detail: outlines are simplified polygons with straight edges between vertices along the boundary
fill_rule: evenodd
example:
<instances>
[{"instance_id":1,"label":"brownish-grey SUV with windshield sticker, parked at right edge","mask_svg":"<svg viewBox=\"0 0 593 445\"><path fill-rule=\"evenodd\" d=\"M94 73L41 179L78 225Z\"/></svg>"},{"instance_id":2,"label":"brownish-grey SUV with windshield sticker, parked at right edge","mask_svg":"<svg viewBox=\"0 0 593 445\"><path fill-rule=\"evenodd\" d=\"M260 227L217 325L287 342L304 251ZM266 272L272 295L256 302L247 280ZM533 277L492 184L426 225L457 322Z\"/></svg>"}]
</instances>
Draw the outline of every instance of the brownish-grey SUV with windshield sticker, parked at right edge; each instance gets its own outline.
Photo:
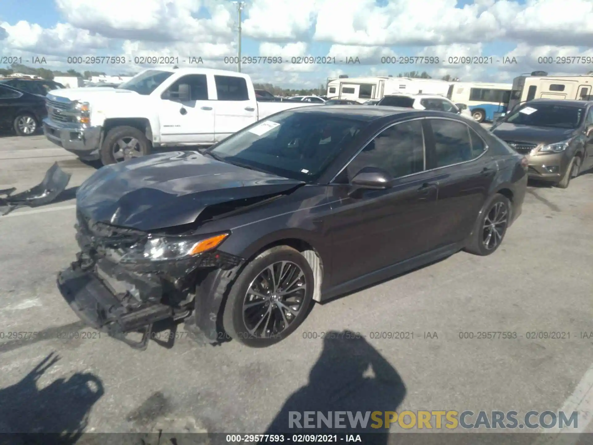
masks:
<instances>
[{"instance_id":1,"label":"brownish-grey SUV with windshield sticker, parked at right edge","mask_svg":"<svg viewBox=\"0 0 593 445\"><path fill-rule=\"evenodd\" d=\"M565 189L593 167L593 101L531 100L490 131L528 158L531 179Z\"/></svg>"}]
</instances>

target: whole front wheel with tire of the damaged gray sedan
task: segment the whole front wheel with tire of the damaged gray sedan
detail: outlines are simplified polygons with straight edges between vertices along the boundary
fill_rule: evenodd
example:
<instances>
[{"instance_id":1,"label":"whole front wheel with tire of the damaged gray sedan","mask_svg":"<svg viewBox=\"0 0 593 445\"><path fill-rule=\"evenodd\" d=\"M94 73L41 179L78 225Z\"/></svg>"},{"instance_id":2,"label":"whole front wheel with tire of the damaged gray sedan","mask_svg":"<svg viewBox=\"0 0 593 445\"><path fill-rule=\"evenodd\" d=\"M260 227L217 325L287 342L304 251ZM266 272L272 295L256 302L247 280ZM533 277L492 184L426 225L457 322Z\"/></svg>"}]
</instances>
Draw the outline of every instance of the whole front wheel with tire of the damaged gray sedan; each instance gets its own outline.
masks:
<instances>
[{"instance_id":1,"label":"whole front wheel with tire of the damaged gray sedan","mask_svg":"<svg viewBox=\"0 0 593 445\"><path fill-rule=\"evenodd\" d=\"M272 247L251 260L232 284L222 325L248 347L278 343L307 316L313 288L305 257L292 247Z\"/></svg>"}]
</instances>

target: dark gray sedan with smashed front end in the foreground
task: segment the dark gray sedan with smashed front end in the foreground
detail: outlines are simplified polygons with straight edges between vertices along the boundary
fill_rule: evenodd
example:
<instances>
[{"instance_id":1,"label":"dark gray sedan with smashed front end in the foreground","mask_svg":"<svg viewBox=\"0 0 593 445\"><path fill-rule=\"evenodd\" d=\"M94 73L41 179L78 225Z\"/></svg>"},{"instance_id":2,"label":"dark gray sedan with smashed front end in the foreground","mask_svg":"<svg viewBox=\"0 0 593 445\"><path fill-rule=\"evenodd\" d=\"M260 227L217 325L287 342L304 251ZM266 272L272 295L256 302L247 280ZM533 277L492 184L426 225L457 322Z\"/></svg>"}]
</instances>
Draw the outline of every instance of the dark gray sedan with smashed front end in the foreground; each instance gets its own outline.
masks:
<instances>
[{"instance_id":1,"label":"dark gray sedan with smashed front end in the foreground","mask_svg":"<svg viewBox=\"0 0 593 445\"><path fill-rule=\"evenodd\" d=\"M438 139L445 127L458 138ZM521 214L526 171L450 113L286 110L208 150L95 172L76 193L81 252L58 285L88 325L135 348L163 320L206 343L266 347L313 301L460 249L495 252Z\"/></svg>"}]
</instances>

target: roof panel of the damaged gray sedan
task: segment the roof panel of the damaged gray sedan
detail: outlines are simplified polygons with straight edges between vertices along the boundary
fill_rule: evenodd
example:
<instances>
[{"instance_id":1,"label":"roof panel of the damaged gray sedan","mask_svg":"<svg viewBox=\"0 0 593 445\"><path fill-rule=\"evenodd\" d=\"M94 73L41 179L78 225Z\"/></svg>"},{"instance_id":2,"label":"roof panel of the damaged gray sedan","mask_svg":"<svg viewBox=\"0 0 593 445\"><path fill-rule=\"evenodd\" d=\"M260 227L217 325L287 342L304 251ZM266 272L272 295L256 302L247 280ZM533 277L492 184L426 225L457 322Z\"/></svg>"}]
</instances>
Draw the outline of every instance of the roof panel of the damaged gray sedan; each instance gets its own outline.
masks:
<instances>
[{"instance_id":1,"label":"roof panel of the damaged gray sedan","mask_svg":"<svg viewBox=\"0 0 593 445\"><path fill-rule=\"evenodd\" d=\"M310 106L302 108L292 108L286 111L294 113L320 113L327 115L334 115L339 117L345 117L346 119L355 119L365 122L371 122L372 120L381 119L383 117L397 116L417 116L417 117L447 117L448 119L454 118L464 122L463 117L451 115L451 113L438 112L438 111L427 111L427 110L414 110L410 108L401 107L385 107L385 106L374 106L367 107L362 104L360 105L326 105L326 106Z\"/></svg>"}]
</instances>

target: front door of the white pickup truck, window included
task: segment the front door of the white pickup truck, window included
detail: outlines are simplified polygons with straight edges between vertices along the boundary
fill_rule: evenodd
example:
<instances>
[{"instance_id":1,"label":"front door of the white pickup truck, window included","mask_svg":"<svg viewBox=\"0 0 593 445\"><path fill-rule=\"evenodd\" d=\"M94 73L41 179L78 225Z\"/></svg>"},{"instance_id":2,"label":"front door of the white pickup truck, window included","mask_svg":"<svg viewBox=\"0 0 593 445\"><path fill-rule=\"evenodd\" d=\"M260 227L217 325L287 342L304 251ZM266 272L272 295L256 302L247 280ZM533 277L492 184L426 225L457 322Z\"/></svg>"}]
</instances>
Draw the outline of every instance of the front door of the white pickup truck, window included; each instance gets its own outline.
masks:
<instances>
[{"instance_id":1,"label":"front door of the white pickup truck, window included","mask_svg":"<svg viewBox=\"0 0 593 445\"><path fill-rule=\"evenodd\" d=\"M179 85L189 86L189 97L180 95ZM213 78L189 74L178 78L161 94L158 105L161 142L173 144L213 144Z\"/></svg>"}]
</instances>

